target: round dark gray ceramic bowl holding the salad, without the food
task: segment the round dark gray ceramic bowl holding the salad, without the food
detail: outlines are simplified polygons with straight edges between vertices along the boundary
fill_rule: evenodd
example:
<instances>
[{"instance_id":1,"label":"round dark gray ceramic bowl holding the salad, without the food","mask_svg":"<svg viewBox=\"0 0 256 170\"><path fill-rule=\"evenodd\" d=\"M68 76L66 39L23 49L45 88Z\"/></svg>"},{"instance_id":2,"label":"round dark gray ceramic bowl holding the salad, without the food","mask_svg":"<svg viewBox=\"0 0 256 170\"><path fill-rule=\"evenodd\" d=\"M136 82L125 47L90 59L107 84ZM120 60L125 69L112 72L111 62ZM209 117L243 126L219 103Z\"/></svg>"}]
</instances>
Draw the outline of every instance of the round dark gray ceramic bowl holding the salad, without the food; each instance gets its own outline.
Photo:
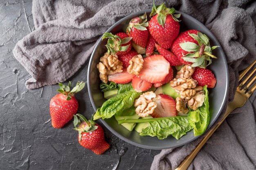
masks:
<instances>
[{"instance_id":1,"label":"round dark gray ceramic bowl holding the salad, without the food","mask_svg":"<svg viewBox=\"0 0 256 170\"><path fill-rule=\"evenodd\" d=\"M144 10L137 13L133 13L119 20L117 23L111 26L107 32L111 32L113 34L118 32L125 32L130 19L133 17L143 15L145 12L148 14L148 19L150 19L149 14L151 10ZM201 22L185 13L179 11L177 11L177 13L181 13L181 31L196 29L209 37L211 46L220 46L218 40L209 31L209 29L206 28ZM103 98L103 94L100 92L99 89L99 84L101 83L101 81L99 79L99 71L96 68L97 63L99 63L100 57L103 56L103 54L106 52L106 41L106 39L101 41L101 38L97 41L96 46L92 52L92 56L90 58L90 63L88 67L88 91L94 111L97 111L97 108L101 107L102 103L106 101L106 99ZM221 47L216 48L216 50L214 50L213 53L218 57L218 59L213 59L213 63L209 66L209 68L213 71L214 75L216 76L217 83L214 89L209 90L209 105L211 119L208 128L212 126L212 124L220 115L220 112L222 111L225 100L227 98L229 86L228 68L227 61L225 59L225 54ZM187 133L187 135L182 136L179 140L176 140L172 136L169 136L163 140L159 140L157 137L140 136L139 133L137 133L136 131L130 132L123 126L117 124L117 121L113 117L110 119L101 120L101 122L112 133L117 135L117 137L135 146L148 149L175 148L177 146L187 144L198 138L198 136L194 136L193 131L190 131L189 133Z\"/></svg>"}]
</instances>

